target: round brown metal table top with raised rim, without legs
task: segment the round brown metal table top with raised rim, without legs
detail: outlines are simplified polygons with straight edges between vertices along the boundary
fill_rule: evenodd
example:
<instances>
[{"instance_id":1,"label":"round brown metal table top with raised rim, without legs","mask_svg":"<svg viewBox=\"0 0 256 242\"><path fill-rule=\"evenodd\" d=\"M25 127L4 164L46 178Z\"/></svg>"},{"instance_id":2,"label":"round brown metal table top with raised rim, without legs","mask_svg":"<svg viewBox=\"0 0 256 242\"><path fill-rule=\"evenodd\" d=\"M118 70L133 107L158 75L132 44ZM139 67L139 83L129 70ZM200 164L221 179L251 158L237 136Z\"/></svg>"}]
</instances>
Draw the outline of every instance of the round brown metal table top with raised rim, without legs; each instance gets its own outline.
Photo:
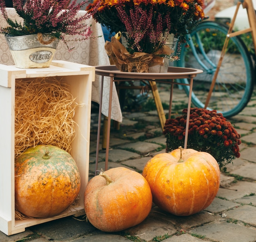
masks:
<instances>
[{"instance_id":1,"label":"round brown metal table top with raised rim, without legs","mask_svg":"<svg viewBox=\"0 0 256 242\"><path fill-rule=\"evenodd\" d=\"M169 66L167 73L136 73L122 72L115 65L95 66L96 75L108 76L124 79L177 79L195 77L202 73L202 70L193 68L173 67Z\"/></svg>"}]
</instances>

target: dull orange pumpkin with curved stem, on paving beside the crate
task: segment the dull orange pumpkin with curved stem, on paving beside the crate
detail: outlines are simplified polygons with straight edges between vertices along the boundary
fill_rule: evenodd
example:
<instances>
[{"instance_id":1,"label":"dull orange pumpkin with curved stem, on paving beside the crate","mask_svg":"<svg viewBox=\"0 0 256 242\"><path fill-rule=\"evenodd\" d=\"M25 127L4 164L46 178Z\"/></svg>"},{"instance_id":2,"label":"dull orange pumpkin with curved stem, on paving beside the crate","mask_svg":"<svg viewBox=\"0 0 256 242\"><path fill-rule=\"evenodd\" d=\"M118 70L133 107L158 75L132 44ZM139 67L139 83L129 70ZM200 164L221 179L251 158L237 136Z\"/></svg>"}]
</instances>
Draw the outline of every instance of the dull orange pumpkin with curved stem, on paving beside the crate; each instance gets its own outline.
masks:
<instances>
[{"instance_id":1,"label":"dull orange pumpkin with curved stem, on paving beside the crate","mask_svg":"<svg viewBox=\"0 0 256 242\"><path fill-rule=\"evenodd\" d=\"M139 224L152 207L152 194L146 179L124 167L94 176L84 195L88 220L105 232L121 231Z\"/></svg>"}]
</instances>

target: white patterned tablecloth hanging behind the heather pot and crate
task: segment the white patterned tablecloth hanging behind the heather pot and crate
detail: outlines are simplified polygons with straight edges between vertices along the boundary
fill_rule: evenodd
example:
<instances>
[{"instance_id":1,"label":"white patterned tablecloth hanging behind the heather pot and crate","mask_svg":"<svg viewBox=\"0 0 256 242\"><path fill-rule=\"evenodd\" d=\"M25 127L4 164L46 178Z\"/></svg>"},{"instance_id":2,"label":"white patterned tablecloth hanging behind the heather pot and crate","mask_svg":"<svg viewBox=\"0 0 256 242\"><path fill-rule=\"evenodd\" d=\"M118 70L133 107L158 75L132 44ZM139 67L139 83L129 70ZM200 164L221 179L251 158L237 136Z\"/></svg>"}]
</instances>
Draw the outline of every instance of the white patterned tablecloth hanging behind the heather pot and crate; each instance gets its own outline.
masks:
<instances>
[{"instance_id":1,"label":"white patterned tablecloth hanging behind the heather pot and crate","mask_svg":"<svg viewBox=\"0 0 256 242\"><path fill-rule=\"evenodd\" d=\"M15 9L7 9L9 17L12 19L17 19L17 13ZM85 11L79 11L79 15L85 14ZM79 64L85 64L89 66L98 65L109 65L109 59L106 54L104 44L105 40L103 37L101 25L95 22L94 19L90 18L86 21L88 25L92 25L92 35L102 37L89 39L81 42L69 42L69 46L74 46L74 50L69 52L67 47L63 42L58 44L56 53L54 55L55 60L65 60L68 62L75 62ZM0 26L7 26L6 21L0 14ZM11 52L7 42L5 41L4 35L0 35L0 64L4 65L14 65L13 59L11 57ZM105 79L106 80L106 77ZM108 116L108 102L109 102L109 81L104 81L103 85L103 101L102 101L102 113ZM92 83L92 101L99 103L99 93L100 93L101 81L98 75L95 76L95 81ZM119 104L119 99L117 96L117 90L115 86L113 87L112 94L112 112L111 119L121 122L122 113Z\"/></svg>"}]
</instances>

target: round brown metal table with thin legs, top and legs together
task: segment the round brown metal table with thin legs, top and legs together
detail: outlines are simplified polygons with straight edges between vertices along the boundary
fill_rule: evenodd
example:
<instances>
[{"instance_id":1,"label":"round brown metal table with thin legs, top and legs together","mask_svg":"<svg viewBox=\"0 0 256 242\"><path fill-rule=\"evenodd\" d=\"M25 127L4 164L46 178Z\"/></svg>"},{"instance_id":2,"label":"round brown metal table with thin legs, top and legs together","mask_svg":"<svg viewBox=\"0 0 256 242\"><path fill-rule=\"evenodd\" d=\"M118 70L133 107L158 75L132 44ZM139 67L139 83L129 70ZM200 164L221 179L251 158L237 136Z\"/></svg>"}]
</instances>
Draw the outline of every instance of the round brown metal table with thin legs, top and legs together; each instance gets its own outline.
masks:
<instances>
[{"instance_id":1,"label":"round brown metal table with thin legs, top and legs together","mask_svg":"<svg viewBox=\"0 0 256 242\"><path fill-rule=\"evenodd\" d=\"M102 94L103 94L103 82L104 77L110 77L110 90L109 90L109 106L108 106L108 117L111 117L111 103L112 103L112 89L114 81L132 81L132 80L147 80L147 81L155 81L166 83L171 85L171 93L170 93L170 105L168 112L168 119L171 118L171 106L172 106L172 95L173 95L173 85L186 85L190 86L189 90L189 101L188 101L188 113L190 113L191 107L191 95L192 95L192 87L193 87L193 78L202 73L202 70L193 69L193 68L182 68L182 67L168 67L167 73L135 73L135 72L121 72L117 69L115 65L110 66L96 66L95 74L101 76L101 90L100 90L100 101L99 101L99 123L98 123L98 132L97 132L97 148L96 148L96 167L95 174L98 172L98 161L99 161L99 140L100 140L100 129L101 129L101 108L102 108ZM175 82L175 79L180 78L188 78L190 79L189 84L183 84L179 82ZM107 124L107 138L106 138L106 158L105 158L105 170L108 169L108 153L109 153L109 139L110 139L110 121L108 118ZM189 115L186 119L186 124L189 123ZM186 125L185 130L185 141L184 141L184 149L186 149L187 141L188 141L188 132L189 125Z\"/></svg>"}]
</instances>

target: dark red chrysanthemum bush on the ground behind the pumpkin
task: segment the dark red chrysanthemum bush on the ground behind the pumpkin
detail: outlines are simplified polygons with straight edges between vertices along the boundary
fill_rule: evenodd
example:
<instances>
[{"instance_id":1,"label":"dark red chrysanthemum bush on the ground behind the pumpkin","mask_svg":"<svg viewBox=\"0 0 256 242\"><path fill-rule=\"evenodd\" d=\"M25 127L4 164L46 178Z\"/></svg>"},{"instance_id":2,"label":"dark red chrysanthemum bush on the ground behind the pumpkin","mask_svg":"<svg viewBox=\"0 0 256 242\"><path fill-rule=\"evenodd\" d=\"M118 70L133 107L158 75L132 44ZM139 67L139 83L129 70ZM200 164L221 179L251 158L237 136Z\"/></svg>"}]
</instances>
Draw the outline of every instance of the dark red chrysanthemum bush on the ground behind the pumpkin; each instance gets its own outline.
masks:
<instances>
[{"instance_id":1,"label":"dark red chrysanthemum bush on the ground behind the pumpkin","mask_svg":"<svg viewBox=\"0 0 256 242\"><path fill-rule=\"evenodd\" d=\"M166 152L184 145L186 117L187 109L184 109L181 117L166 120ZM220 168L240 157L240 137L231 123L216 110L191 108L187 148L210 153Z\"/></svg>"}]
</instances>

